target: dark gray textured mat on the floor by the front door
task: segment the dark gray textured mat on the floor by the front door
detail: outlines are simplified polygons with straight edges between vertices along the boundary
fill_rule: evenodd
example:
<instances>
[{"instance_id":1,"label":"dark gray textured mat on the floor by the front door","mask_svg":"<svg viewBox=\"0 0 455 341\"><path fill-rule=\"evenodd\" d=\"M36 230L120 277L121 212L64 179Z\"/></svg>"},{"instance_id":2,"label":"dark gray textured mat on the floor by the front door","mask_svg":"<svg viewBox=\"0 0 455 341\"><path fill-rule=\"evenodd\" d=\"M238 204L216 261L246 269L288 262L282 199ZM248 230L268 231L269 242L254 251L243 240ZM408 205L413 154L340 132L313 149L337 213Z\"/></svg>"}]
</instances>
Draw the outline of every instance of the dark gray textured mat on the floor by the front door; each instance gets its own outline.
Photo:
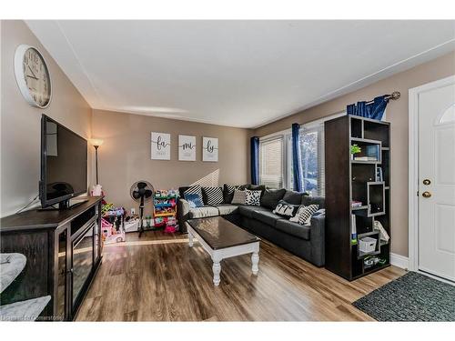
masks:
<instances>
[{"instance_id":1,"label":"dark gray textured mat on the floor by the front door","mask_svg":"<svg viewBox=\"0 0 455 341\"><path fill-rule=\"evenodd\" d=\"M455 321L455 286L409 272L352 305L378 321Z\"/></svg>"}]
</instances>

